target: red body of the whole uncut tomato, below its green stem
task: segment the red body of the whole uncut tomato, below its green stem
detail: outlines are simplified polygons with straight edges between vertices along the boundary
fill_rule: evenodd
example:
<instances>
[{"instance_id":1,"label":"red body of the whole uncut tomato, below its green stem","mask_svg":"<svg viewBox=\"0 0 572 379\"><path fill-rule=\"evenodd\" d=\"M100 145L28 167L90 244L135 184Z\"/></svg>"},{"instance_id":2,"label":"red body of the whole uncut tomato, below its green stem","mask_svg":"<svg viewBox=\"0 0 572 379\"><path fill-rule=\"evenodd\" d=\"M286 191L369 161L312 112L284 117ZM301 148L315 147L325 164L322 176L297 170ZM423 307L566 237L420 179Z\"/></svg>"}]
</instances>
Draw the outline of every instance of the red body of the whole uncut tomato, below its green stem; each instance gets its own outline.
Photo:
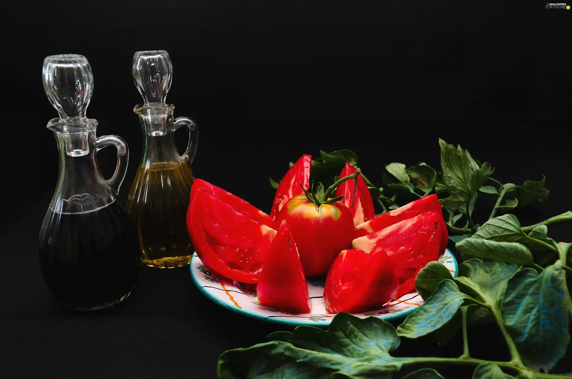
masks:
<instances>
[{"instance_id":1,"label":"red body of the whole uncut tomato, below its green stem","mask_svg":"<svg viewBox=\"0 0 572 379\"><path fill-rule=\"evenodd\" d=\"M295 196L281 209L275 222L287 220L300 253L304 274L324 279L340 251L349 248L355 225L349 209L340 201L311 203L304 195Z\"/></svg>"}]
</instances>

